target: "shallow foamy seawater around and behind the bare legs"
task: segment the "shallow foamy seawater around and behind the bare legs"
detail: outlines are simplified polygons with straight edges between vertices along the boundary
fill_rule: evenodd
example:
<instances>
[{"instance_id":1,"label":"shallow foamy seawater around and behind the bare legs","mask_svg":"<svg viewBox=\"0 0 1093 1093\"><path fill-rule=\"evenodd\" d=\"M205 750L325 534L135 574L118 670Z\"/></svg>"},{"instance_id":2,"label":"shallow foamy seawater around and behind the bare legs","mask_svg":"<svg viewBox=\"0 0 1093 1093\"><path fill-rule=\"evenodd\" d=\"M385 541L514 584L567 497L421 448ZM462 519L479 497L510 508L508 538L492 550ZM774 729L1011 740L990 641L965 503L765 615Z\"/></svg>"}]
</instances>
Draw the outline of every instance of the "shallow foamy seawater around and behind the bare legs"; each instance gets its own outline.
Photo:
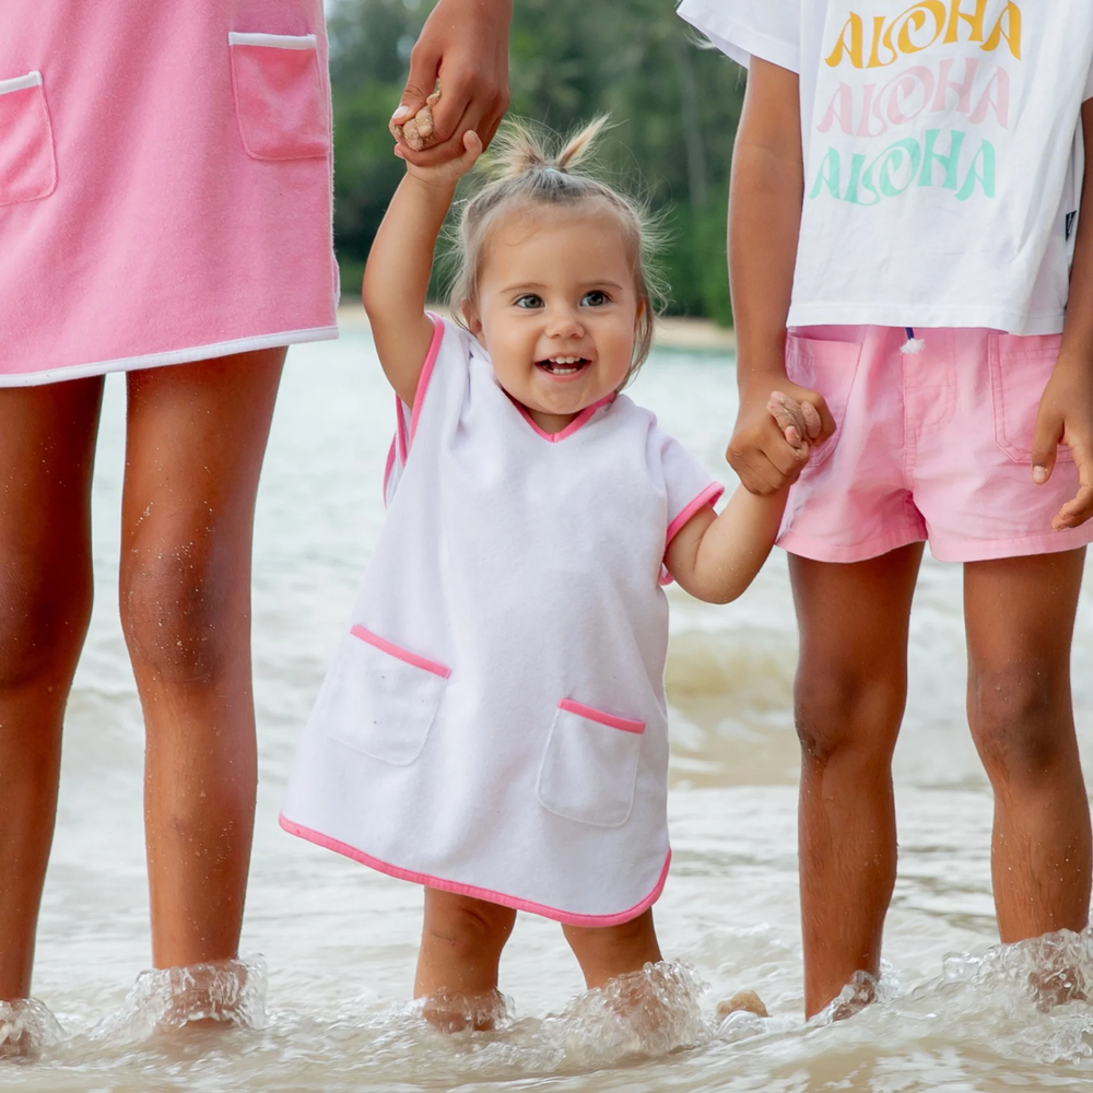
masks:
<instances>
[{"instance_id":1,"label":"shallow foamy seawater around and behind the bare legs","mask_svg":"<svg viewBox=\"0 0 1093 1093\"><path fill-rule=\"evenodd\" d=\"M658 352L635 398L726 482L731 361ZM963 724L959 568L928 562L912 698L896 754L901 860L881 1001L838 1024L801 1019L796 875L796 656L785 560L739 603L672 588L674 862L657 906L666 954L648 986L669 1026L585 995L551 922L520 916L492 1033L446 1036L408 1002L421 892L285 835L277 813L303 724L383 517L392 396L367 334L290 353L259 505L255 657L261 786L243 950L252 1027L151 1031L140 712L116 621L122 384L108 384L95 483L98 597L66 737L60 820L38 943L35 1062L4 1090L1010 1091L1093 1081L1093 1007L1042 1012L1034 967L1093 987L1093 943L998 949L990 795ZM1093 593L1076 701L1093 750ZM0 881L2 882L2 881ZM1042 947L1043 948L1043 947ZM260 954L260 955L259 955ZM716 1016L756 990L772 1016ZM4 1015L0 1012L0 1025Z\"/></svg>"}]
</instances>

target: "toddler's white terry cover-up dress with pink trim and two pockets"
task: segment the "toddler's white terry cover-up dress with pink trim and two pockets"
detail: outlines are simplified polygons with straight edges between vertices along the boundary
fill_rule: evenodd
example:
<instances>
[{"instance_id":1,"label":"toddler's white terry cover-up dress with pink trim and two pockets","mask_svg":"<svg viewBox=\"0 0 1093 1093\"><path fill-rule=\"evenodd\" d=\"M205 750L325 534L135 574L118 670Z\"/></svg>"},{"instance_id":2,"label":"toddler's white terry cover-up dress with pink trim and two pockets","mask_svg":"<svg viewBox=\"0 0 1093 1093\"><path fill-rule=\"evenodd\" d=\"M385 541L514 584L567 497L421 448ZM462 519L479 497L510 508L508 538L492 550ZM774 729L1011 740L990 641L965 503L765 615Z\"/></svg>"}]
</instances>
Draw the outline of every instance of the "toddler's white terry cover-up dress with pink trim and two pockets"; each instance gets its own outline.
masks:
<instances>
[{"instance_id":1,"label":"toddler's white terry cover-up dress with pink trim and two pockets","mask_svg":"<svg viewBox=\"0 0 1093 1093\"><path fill-rule=\"evenodd\" d=\"M281 824L433 888L623 922L670 859L665 550L722 487L625 396L542 432L434 324Z\"/></svg>"}]
</instances>

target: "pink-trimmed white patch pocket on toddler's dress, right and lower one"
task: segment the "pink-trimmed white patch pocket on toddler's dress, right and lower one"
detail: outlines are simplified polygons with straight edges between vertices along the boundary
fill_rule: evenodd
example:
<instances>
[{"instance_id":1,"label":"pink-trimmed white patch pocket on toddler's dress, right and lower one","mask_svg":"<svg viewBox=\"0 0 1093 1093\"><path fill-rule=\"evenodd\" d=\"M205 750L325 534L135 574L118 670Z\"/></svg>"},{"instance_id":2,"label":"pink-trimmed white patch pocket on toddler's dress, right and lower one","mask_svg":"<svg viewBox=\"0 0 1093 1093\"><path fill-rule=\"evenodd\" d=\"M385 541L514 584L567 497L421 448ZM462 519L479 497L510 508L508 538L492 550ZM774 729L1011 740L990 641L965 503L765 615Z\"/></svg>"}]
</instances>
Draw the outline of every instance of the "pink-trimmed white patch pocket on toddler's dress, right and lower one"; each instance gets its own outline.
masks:
<instances>
[{"instance_id":1,"label":"pink-trimmed white patch pocket on toddler's dress, right and lower one","mask_svg":"<svg viewBox=\"0 0 1093 1093\"><path fill-rule=\"evenodd\" d=\"M644 721L564 698L539 768L539 803L566 820L621 827L634 807L643 732Z\"/></svg>"}]
</instances>

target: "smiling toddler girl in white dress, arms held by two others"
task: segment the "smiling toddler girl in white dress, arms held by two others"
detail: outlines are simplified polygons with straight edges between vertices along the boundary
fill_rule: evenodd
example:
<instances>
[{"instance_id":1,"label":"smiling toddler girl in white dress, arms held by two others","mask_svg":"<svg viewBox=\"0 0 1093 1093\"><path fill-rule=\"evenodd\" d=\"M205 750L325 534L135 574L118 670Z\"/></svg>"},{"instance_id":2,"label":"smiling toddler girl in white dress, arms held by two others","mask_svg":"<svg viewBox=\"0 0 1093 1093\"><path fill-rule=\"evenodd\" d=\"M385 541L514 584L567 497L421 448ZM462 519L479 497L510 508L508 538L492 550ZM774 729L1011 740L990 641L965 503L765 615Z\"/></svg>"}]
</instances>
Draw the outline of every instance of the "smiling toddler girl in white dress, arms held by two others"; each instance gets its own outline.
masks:
<instances>
[{"instance_id":1,"label":"smiling toddler girl in white dress, arms held by two others","mask_svg":"<svg viewBox=\"0 0 1093 1093\"><path fill-rule=\"evenodd\" d=\"M365 275L398 396L388 515L281 822L425 885L415 996L448 1026L489 1023L454 999L495 997L517 909L563 924L590 988L660 960L660 586L734 599L784 508L740 491L717 516L721 487L620 393L654 303L639 210L574 169L601 125L553 161L527 132L503 143L462 214L466 327L425 293L474 133L408 164Z\"/></svg>"}]
</instances>

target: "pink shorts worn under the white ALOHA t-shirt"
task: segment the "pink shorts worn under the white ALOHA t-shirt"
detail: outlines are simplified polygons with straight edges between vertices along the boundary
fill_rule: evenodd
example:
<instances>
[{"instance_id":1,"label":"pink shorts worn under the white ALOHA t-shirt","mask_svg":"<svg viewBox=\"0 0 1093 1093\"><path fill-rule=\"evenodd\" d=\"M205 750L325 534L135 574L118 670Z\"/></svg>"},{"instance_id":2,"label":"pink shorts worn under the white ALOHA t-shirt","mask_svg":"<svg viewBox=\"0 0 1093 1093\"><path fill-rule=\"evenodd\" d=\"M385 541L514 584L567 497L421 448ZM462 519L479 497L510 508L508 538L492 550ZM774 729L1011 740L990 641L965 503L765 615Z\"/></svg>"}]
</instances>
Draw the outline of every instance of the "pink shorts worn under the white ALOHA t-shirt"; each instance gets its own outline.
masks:
<instances>
[{"instance_id":1,"label":"pink shorts worn under the white ALOHA t-shirt","mask_svg":"<svg viewBox=\"0 0 1093 1093\"><path fill-rule=\"evenodd\" d=\"M892 327L791 332L789 378L819 391L837 424L789 495L778 545L819 562L861 562L928 541L943 562L1074 550L1093 520L1053 531L1078 492L1070 450L1032 480L1041 396L1060 337Z\"/></svg>"}]
</instances>

